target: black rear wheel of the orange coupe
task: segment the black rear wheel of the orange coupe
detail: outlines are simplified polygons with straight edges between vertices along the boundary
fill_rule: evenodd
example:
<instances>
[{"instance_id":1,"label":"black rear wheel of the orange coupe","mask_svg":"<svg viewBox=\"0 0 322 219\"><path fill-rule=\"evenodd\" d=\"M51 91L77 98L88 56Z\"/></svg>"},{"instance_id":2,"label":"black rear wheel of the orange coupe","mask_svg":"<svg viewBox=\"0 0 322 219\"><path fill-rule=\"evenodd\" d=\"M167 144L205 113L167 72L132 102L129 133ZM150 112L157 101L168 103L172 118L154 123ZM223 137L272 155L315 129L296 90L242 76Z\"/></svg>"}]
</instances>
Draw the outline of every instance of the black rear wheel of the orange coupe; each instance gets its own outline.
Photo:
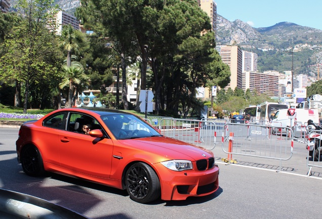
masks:
<instances>
[{"instance_id":1,"label":"black rear wheel of the orange coupe","mask_svg":"<svg viewBox=\"0 0 322 219\"><path fill-rule=\"evenodd\" d=\"M22 149L21 166L30 176L41 176L45 173L42 155L34 145L27 145Z\"/></svg>"}]
</instances>

